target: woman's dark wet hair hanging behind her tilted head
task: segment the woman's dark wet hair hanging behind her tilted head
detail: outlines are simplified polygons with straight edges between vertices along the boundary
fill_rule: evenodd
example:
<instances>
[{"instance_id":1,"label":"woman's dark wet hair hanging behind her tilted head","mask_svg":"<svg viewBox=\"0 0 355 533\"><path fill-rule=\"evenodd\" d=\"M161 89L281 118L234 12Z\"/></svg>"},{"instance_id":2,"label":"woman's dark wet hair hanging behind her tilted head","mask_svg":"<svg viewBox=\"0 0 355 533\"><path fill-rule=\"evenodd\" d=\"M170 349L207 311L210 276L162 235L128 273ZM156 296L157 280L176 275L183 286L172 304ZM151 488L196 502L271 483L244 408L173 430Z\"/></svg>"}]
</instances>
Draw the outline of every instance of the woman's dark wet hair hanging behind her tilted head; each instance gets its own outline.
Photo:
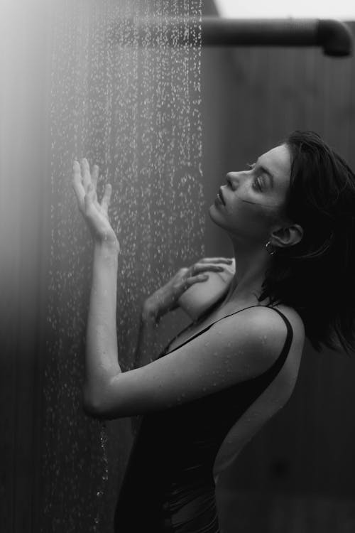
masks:
<instances>
[{"instance_id":1,"label":"woman's dark wet hair hanging behind her tilted head","mask_svg":"<svg viewBox=\"0 0 355 533\"><path fill-rule=\"evenodd\" d=\"M277 248L259 301L269 296L295 308L305 335L320 352L355 350L355 175L314 131L293 131L283 212L303 237Z\"/></svg>"}]
</instances>

